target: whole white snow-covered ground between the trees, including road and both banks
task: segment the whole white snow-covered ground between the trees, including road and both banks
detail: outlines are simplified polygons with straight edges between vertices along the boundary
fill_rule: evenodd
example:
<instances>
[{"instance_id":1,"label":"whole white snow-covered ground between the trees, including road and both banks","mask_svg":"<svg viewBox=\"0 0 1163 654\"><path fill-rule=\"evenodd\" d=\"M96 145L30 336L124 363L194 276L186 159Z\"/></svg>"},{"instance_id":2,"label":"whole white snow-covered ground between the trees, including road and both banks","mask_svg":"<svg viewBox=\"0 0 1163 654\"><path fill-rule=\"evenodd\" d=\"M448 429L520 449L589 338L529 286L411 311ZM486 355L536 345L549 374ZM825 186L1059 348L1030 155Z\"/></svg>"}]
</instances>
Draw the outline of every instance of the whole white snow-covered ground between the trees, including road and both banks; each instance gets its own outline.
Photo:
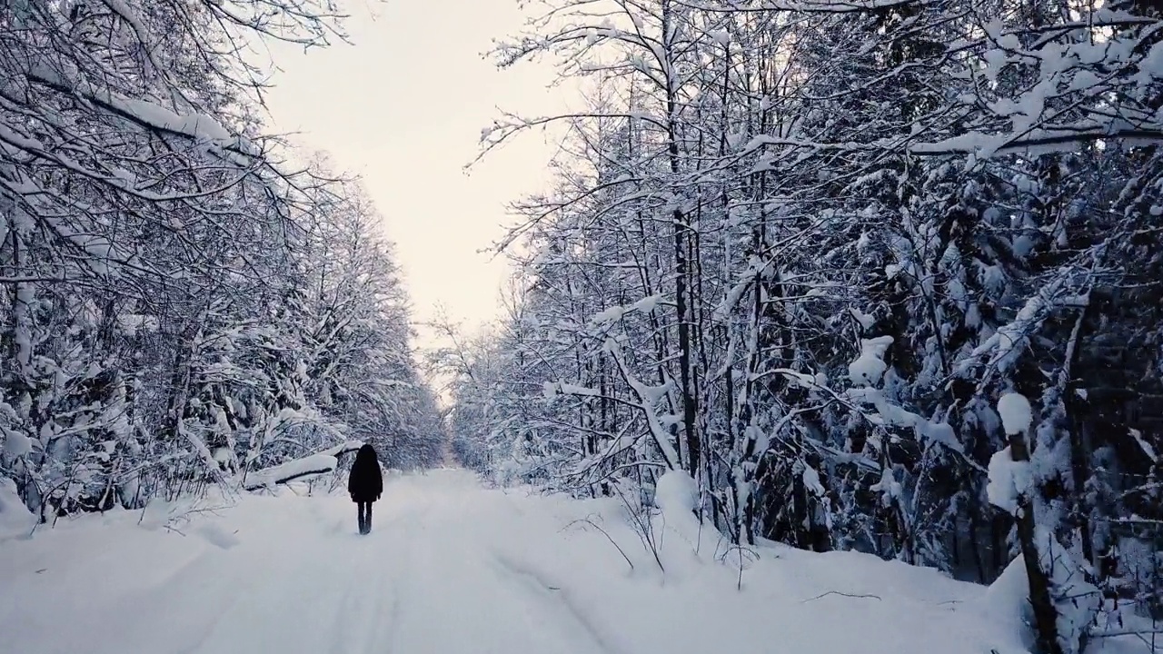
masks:
<instances>
[{"instance_id":1,"label":"whole white snow-covered ground between the trees, including road and both banks","mask_svg":"<svg viewBox=\"0 0 1163 654\"><path fill-rule=\"evenodd\" d=\"M659 493L666 500L665 525L655 529L663 574L616 500L487 490L454 469L385 482L368 536L356 533L345 496L284 489L169 526L164 512L147 512L138 525L141 512L119 511L62 520L31 539L3 538L0 648L1026 651L1004 588L991 591L861 554L765 546L758 560L743 557L739 590L741 553L716 553L716 539L687 520L682 498L673 497L680 484ZM575 523L580 519L590 523Z\"/></svg>"}]
</instances>

